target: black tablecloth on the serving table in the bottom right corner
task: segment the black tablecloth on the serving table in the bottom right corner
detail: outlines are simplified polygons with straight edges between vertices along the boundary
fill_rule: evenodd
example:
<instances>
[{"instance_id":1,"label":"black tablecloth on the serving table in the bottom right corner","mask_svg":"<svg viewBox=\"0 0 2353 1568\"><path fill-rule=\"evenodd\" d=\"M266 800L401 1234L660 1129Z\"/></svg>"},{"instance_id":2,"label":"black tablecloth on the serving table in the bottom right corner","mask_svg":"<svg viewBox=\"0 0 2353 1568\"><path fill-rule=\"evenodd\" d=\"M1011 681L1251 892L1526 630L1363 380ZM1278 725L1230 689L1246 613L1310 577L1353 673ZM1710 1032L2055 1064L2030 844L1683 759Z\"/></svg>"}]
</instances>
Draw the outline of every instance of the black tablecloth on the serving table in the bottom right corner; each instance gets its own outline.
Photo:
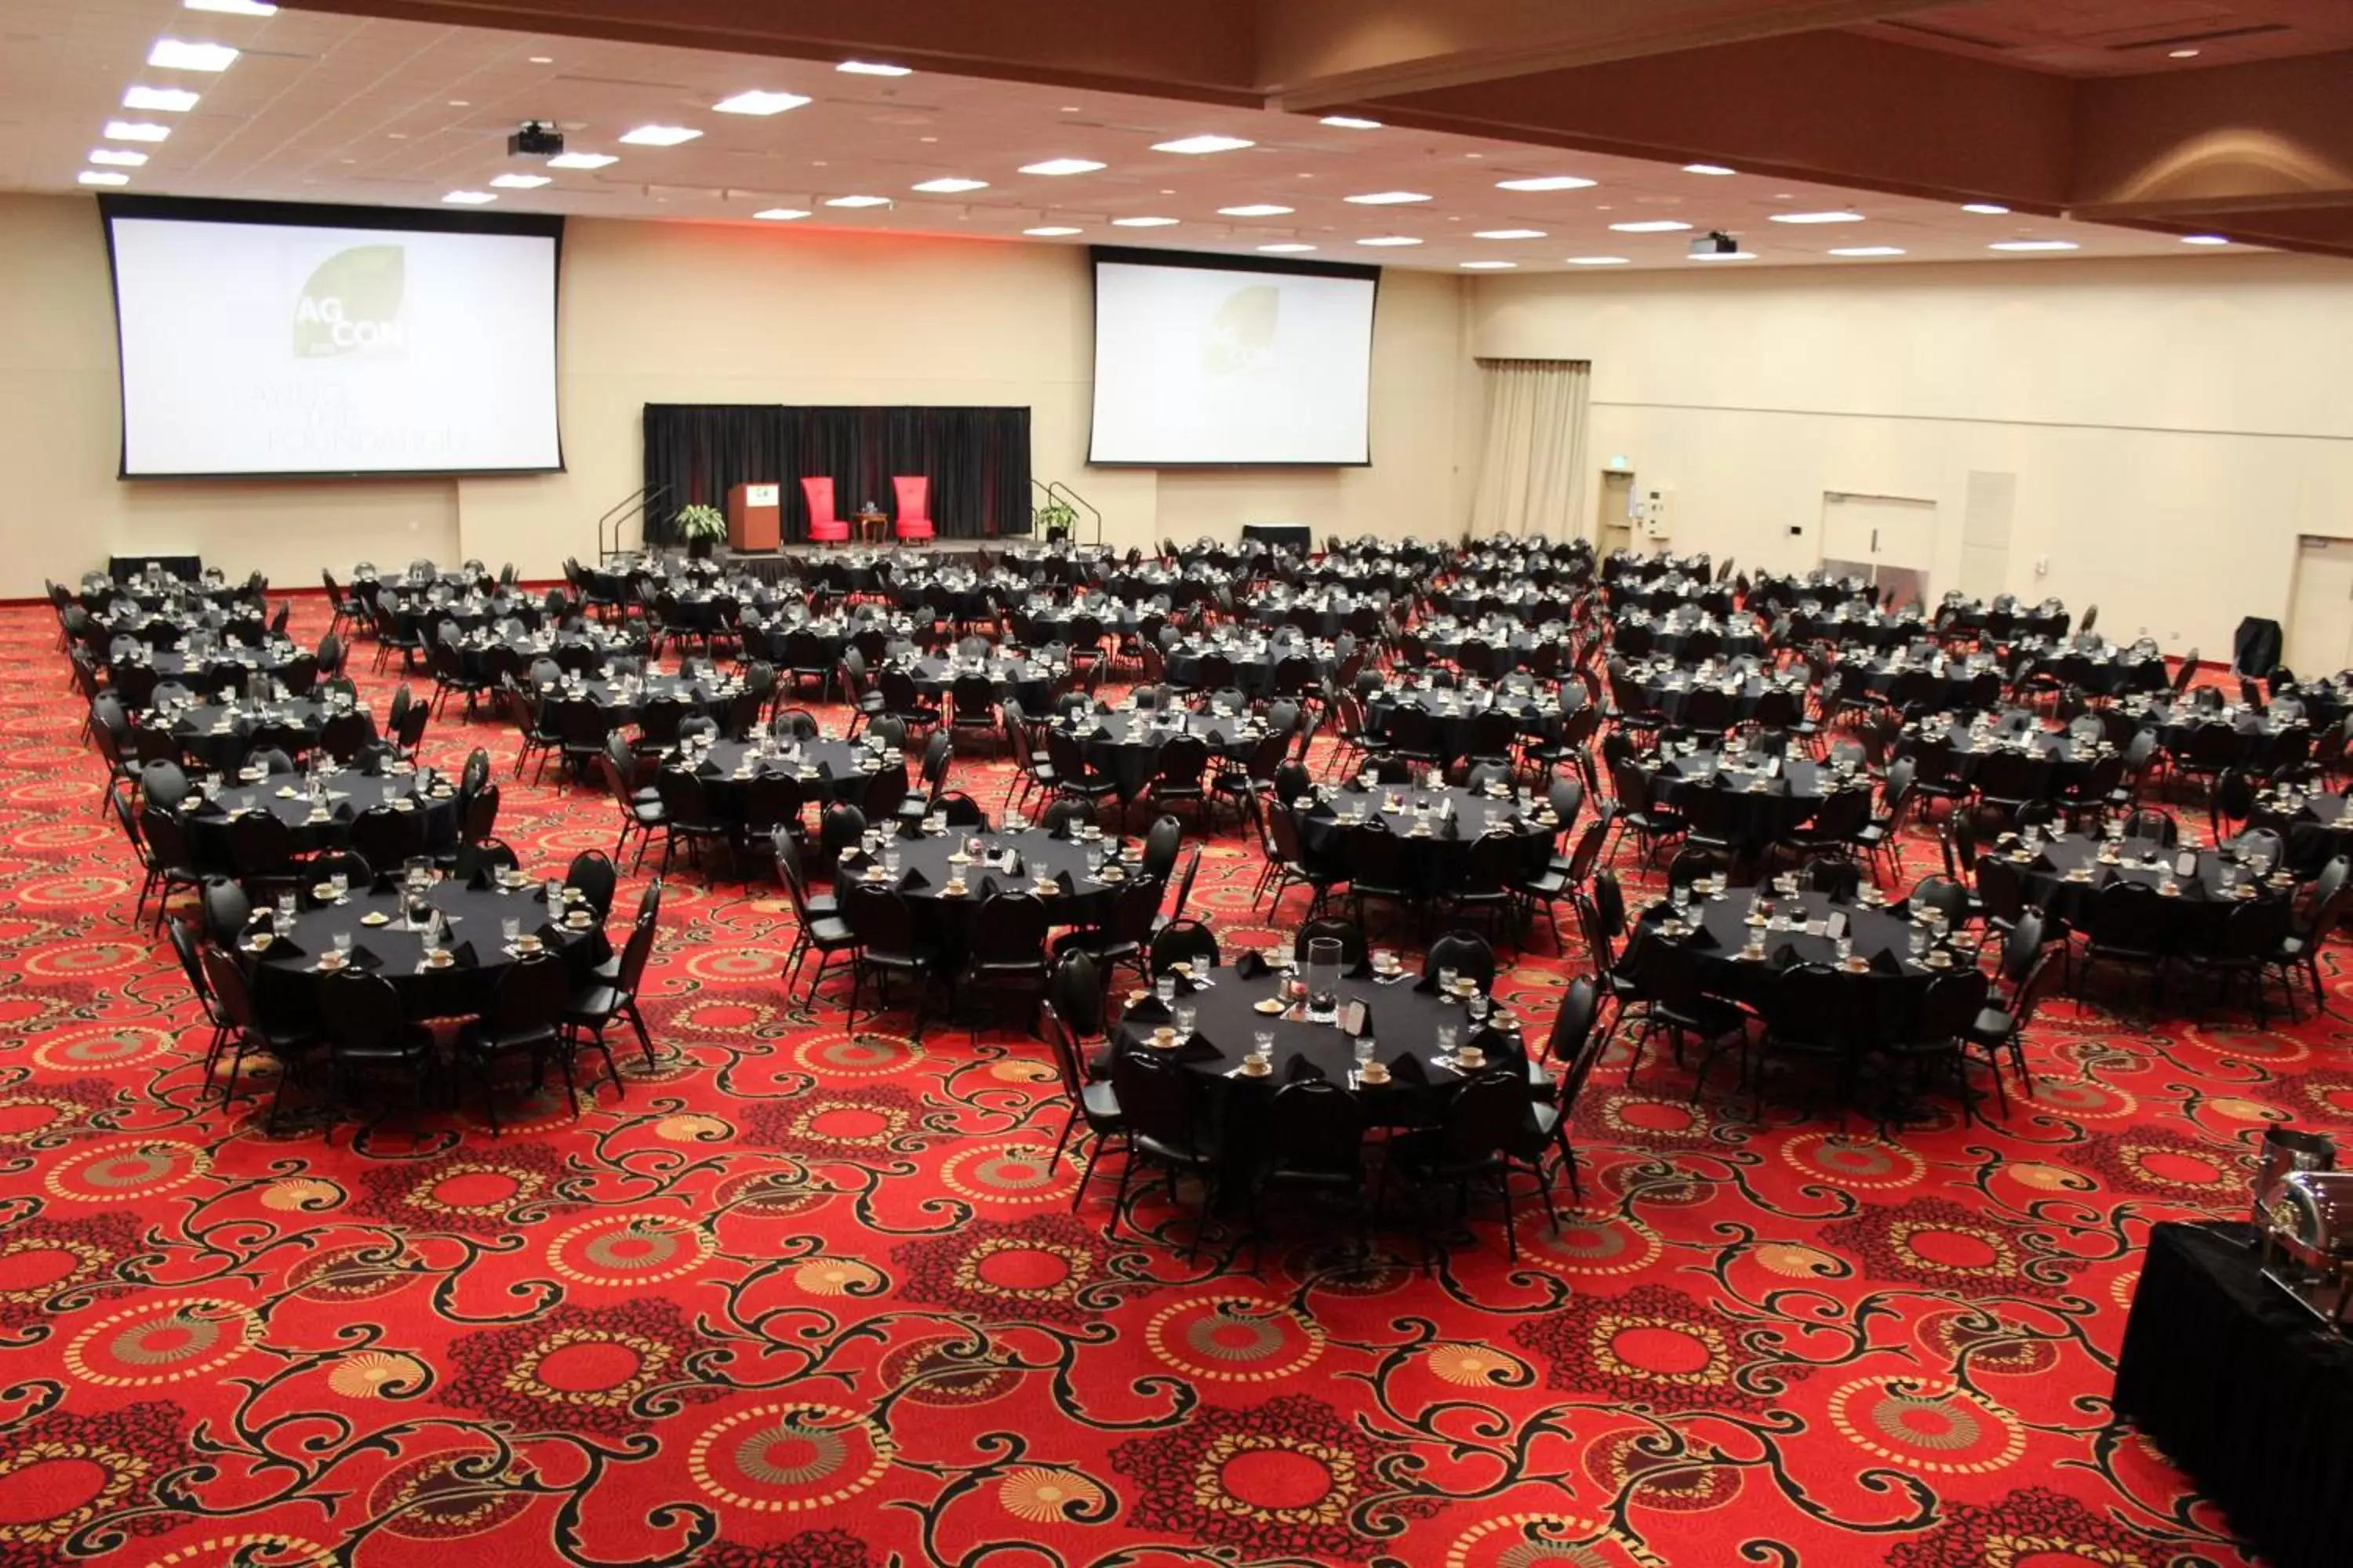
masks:
<instances>
[{"instance_id":1,"label":"black tablecloth on the serving table in the bottom right corner","mask_svg":"<svg viewBox=\"0 0 2353 1568\"><path fill-rule=\"evenodd\" d=\"M2264 1281L2249 1234L2148 1234L2115 1408L2273 1568L2337 1568L2353 1542L2353 1340Z\"/></svg>"}]
</instances>

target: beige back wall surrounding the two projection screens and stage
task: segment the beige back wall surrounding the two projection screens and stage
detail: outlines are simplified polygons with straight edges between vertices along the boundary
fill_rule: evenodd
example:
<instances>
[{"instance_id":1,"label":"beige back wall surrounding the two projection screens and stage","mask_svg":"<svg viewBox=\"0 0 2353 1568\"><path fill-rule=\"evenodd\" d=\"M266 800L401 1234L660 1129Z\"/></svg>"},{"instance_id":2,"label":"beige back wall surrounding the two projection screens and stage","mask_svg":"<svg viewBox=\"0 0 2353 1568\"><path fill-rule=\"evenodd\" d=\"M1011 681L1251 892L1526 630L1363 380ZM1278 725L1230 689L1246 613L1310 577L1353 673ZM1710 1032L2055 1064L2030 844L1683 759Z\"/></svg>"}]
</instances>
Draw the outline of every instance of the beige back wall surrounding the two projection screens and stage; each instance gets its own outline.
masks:
<instances>
[{"instance_id":1,"label":"beige back wall surrounding the two projection screens and stage","mask_svg":"<svg viewBox=\"0 0 2353 1568\"><path fill-rule=\"evenodd\" d=\"M322 564L478 555L553 576L640 482L647 402L986 402L1033 409L1040 480L1075 484L1113 543L1457 531L1464 292L1391 273L1374 334L1374 468L1089 470L1092 299L1082 249L689 223L565 235L569 473L327 484L122 484L106 247L94 202L0 197L0 440L24 475L0 520L0 597L111 550L200 550L278 583ZM1468 404L1475 409L1475 404ZM635 538L635 534L631 534Z\"/></svg>"}]
</instances>

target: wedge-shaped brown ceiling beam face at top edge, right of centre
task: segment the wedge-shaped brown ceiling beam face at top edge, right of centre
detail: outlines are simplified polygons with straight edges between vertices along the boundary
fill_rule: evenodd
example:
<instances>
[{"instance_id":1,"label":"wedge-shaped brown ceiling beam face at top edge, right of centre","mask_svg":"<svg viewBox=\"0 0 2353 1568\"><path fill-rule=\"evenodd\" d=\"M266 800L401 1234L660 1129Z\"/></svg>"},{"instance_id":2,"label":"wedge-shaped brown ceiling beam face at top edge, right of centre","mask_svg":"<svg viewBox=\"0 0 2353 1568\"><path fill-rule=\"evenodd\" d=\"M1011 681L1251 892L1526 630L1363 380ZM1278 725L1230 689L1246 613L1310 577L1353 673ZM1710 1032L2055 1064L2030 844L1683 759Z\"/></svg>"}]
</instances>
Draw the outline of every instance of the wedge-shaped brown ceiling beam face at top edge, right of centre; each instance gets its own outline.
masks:
<instances>
[{"instance_id":1,"label":"wedge-shaped brown ceiling beam face at top edge, right of centre","mask_svg":"<svg viewBox=\"0 0 2353 1568\"><path fill-rule=\"evenodd\" d=\"M1941 0L1261 0L1259 87L1325 110L1532 73L1809 33Z\"/></svg>"}]
</instances>

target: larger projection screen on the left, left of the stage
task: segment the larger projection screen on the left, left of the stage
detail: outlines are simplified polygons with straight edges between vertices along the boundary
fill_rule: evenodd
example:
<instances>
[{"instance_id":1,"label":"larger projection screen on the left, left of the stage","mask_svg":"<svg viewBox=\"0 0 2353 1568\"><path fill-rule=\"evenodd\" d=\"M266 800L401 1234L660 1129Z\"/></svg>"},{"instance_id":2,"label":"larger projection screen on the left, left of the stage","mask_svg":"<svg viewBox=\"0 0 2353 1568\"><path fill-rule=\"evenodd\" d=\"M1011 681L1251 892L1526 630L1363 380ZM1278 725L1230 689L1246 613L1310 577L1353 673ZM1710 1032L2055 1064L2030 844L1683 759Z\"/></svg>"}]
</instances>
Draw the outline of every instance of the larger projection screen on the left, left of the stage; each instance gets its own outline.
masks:
<instances>
[{"instance_id":1,"label":"larger projection screen on the left, left of the stage","mask_svg":"<svg viewBox=\"0 0 2353 1568\"><path fill-rule=\"evenodd\" d=\"M108 197L122 477L562 468L562 219Z\"/></svg>"}]
</instances>

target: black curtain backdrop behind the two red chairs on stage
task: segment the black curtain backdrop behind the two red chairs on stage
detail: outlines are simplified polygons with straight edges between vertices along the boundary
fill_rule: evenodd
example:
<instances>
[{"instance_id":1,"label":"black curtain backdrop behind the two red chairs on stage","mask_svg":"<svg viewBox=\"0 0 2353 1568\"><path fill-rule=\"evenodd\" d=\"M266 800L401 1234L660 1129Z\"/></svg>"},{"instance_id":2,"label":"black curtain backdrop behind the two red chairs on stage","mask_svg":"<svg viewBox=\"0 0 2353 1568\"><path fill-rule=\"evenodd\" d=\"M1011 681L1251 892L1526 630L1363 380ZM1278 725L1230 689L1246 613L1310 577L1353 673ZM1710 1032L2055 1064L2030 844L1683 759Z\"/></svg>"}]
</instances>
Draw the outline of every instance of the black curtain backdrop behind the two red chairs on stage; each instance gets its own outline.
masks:
<instances>
[{"instance_id":1,"label":"black curtain backdrop behind the two red chairs on stage","mask_svg":"<svg viewBox=\"0 0 2353 1568\"><path fill-rule=\"evenodd\" d=\"M652 543L671 541L678 508L725 510L729 489L767 482L784 487L784 543L805 543L807 475L833 477L842 517L866 501L896 517L892 475L929 475L941 538L1028 534L1028 409L645 404L645 484L668 487L647 515Z\"/></svg>"}]
</instances>

